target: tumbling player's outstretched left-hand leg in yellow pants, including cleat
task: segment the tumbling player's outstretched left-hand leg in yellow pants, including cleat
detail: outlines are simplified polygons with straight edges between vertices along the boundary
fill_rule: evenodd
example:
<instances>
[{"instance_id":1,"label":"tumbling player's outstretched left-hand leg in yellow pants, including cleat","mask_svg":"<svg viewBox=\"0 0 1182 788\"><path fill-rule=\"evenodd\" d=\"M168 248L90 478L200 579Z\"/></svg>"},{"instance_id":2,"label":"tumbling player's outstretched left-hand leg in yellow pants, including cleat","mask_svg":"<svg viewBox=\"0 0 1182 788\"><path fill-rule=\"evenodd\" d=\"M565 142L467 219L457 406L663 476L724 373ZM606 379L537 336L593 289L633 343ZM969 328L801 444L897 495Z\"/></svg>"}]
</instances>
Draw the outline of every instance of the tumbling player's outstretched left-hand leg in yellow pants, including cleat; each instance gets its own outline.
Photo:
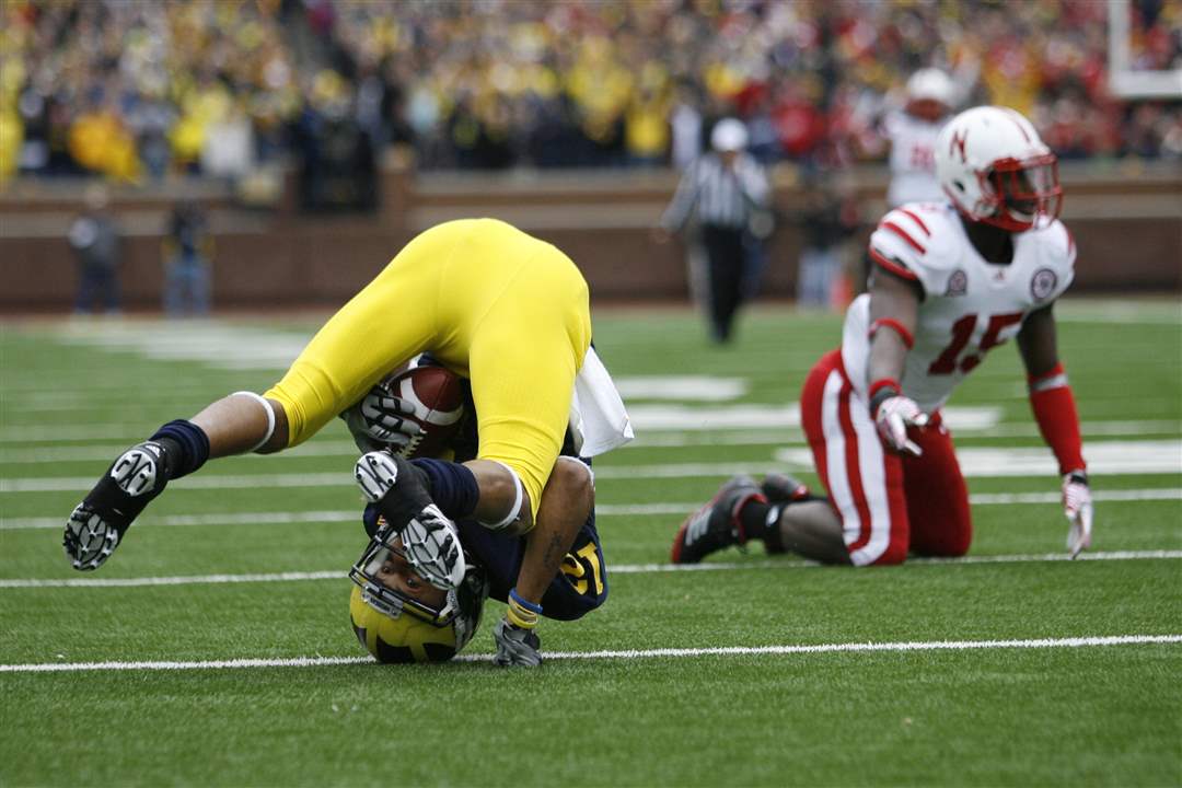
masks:
<instances>
[{"instance_id":1,"label":"tumbling player's outstretched left-hand leg in yellow pants, including cleat","mask_svg":"<svg viewBox=\"0 0 1182 788\"><path fill-rule=\"evenodd\" d=\"M455 242L455 233L440 228L411 241L329 320L266 399L230 395L119 455L66 523L64 546L74 568L100 566L170 480L212 457L299 443L422 350L436 333L434 300L416 301L415 294L439 291L440 266L430 263L452 254Z\"/></svg>"}]
</instances>

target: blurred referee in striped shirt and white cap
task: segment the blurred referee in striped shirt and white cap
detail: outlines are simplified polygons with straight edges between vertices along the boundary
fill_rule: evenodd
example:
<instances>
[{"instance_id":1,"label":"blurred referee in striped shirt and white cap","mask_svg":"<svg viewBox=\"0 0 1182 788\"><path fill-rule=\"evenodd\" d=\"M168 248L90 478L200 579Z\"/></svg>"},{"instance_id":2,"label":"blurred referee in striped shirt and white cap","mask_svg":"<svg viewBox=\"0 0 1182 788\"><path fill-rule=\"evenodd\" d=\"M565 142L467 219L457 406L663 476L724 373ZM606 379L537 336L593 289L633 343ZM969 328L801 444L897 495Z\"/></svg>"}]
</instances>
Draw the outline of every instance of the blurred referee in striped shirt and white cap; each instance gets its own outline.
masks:
<instances>
[{"instance_id":1,"label":"blurred referee in striped shirt and white cap","mask_svg":"<svg viewBox=\"0 0 1182 788\"><path fill-rule=\"evenodd\" d=\"M709 261L710 333L715 341L726 343L742 302L743 235L753 217L767 215L771 189L764 168L743 152L747 129L740 121L719 121L710 146L710 152L686 169L661 217L657 239L667 240L683 229L696 211Z\"/></svg>"}]
</instances>

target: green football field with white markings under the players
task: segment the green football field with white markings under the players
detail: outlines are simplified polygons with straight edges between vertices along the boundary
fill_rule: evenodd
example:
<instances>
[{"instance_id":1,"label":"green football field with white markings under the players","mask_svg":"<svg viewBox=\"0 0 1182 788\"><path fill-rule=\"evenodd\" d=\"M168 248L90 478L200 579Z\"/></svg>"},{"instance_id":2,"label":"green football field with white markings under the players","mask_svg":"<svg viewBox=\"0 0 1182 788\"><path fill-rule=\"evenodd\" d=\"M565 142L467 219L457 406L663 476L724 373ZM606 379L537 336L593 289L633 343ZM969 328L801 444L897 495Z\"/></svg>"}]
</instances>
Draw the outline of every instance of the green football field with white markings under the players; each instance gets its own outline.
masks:
<instances>
[{"instance_id":1,"label":"green football field with white markings under the players","mask_svg":"<svg viewBox=\"0 0 1182 788\"><path fill-rule=\"evenodd\" d=\"M0 786L1182 784L1182 310L1058 308L1096 535L1064 560L1053 457L1011 346L947 410L969 555L853 571L762 548L668 565L734 473L814 482L795 403L840 319L595 313L638 438L596 461L610 598L546 663L372 663L343 424L169 486L111 561L61 525L161 423L261 391L317 319L0 324Z\"/></svg>"}]
</instances>

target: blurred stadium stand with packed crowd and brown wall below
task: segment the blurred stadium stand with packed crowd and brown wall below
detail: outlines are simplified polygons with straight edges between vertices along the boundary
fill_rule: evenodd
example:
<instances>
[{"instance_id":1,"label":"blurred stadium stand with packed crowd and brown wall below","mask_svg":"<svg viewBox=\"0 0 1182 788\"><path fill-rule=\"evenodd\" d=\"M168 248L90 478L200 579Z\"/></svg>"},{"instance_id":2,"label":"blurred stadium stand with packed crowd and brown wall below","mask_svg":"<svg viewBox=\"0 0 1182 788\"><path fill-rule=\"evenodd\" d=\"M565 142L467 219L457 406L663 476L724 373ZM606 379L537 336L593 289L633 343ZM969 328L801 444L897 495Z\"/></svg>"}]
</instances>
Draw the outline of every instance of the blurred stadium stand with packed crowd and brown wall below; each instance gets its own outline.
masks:
<instances>
[{"instance_id":1,"label":"blurred stadium stand with packed crowd and brown wall below","mask_svg":"<svg viewBox=\"0 0 1182 788\"><path fill-rule=\"evenodd\" d=\"M886 183L882 119L927 65L953 76L962 104L1020 109L1056 149L1065 219L1087 250L1078 288L1177 291L1182 99L1110 95L1106 8L12 0L0 306L69 307L63 239L96 175L115 185L129 308L158 304L178 200L209 215L219 307L336 302L415 232L462 215L559 243L598 298L684 298L681 252L654 248L648 229L713 118L747 122L780 210L832 176L870 222ZM1130 67L1182 69L1182 6L1129 9ZM765 294L792 294L800 242L780 222Z\"/></svg>"}]
</instances>

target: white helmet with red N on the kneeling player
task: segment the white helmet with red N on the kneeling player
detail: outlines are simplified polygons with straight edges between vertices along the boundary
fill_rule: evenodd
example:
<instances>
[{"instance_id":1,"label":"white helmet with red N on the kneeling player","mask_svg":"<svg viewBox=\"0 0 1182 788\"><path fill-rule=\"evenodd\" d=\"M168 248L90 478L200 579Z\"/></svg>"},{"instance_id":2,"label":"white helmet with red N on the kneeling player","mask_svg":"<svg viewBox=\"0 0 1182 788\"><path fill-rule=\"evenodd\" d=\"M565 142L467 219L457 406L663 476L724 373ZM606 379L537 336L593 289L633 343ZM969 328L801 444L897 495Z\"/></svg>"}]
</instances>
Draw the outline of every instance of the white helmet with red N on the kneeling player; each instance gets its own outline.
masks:
<instances>
[{"instance_id":1,"label":"white helmet with red N on the kneeling player","mask_svg":"<svg viewBox=\"0 0 1182 788\"><path fill-rule=\"evenodd\" d=\"M1054 154L1030 121L1005 106L965 110L941 129L936 178L970 220L1014 233L1063 208Z\"/></svg>"}]
</instances>

